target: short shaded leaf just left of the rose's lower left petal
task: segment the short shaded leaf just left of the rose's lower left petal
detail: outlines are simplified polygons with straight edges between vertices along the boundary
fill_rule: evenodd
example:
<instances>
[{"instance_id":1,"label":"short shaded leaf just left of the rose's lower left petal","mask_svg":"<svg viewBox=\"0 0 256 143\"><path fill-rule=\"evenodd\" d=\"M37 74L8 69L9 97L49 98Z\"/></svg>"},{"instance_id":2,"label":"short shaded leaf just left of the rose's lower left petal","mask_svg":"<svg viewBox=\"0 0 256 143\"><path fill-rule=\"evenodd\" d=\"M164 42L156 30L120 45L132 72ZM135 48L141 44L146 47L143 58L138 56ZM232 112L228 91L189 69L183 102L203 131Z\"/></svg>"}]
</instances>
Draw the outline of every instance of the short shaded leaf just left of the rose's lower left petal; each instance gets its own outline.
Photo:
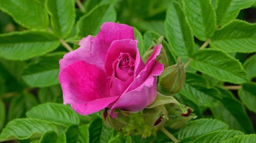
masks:
<instances>
[{"instance_id":1,"label":"short shaded leaf just left of the rose's lower left petal","mask_svg":"<svg viewBox=\"0 0 256 143\"><path fill-rule=\"evenodd\" d=\"M40 88L38 90L38 99L40 103L46 103L46 102L63 103L62 91L61 91L60 85L57 84L47 88Z\"/></svg>"}]
</instances>

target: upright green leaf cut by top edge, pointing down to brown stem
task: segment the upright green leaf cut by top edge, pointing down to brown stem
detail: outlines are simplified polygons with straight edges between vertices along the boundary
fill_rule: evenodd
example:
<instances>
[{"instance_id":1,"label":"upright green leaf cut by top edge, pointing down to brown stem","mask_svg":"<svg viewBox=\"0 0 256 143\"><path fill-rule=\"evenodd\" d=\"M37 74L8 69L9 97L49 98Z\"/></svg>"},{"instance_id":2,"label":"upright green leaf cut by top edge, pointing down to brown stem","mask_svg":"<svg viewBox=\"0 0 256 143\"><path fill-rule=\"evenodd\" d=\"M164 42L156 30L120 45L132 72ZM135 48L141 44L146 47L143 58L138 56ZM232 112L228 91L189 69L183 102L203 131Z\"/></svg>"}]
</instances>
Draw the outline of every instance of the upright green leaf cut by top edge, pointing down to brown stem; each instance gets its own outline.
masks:
<instances>
[{"instance_id":1,"label":"upright green leaf cut by top edge, pointing down to brown stem","mask_svg":"<svg viewBox=\"0 0 256 143\"><path fill-rule=\"evenodd\" d=\"M51 16L53 32L61 38L66 38L75 23L75 1L47 0L46 9Z\"/></svg>"}]
</instances>

